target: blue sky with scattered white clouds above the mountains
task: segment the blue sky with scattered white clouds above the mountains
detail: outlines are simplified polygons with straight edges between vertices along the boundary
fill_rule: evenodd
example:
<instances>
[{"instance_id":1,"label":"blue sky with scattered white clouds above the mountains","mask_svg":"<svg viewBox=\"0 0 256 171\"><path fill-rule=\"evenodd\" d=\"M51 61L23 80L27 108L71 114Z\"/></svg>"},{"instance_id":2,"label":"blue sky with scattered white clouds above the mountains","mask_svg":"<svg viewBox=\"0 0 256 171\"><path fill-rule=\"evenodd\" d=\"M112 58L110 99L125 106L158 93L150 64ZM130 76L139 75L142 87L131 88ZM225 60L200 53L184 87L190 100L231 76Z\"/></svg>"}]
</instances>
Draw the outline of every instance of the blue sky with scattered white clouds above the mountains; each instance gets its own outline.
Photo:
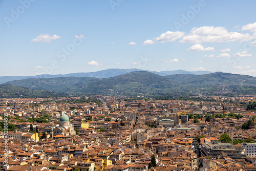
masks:
<instances>
[{"instance_id":1,"label":"blue sky with scattered white clouds above the mountains","mask_svg":"<svg viewBox=\"0 0 256 171\"><path fill-rule=\"evenodd\" d=\"M0 1L0 76L105 69L256 76L256 1Z\"/></svg>"}]
</instances>

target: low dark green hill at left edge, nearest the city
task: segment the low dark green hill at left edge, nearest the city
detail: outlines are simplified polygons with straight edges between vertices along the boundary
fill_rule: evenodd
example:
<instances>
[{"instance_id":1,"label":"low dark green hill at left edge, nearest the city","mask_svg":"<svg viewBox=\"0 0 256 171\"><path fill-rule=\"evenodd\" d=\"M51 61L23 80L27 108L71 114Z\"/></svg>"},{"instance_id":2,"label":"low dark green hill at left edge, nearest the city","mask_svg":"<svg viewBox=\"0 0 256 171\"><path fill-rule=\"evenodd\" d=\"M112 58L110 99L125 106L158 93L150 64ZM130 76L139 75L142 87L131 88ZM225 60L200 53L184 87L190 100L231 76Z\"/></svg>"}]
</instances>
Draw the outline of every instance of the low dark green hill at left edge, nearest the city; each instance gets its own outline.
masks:
<instances>
[{"instance_id":1,"label":"low dark green hill at left edge, nearest the city","mask_svg":"<svg viewBox=\"0 0 256 171\"><path fill-rule=\"evenodd\" d=\"M0 98L50 98L63 96L67 96L67 94L56 93L46 90L30 90L27 88L15 87L10 85L0 85Z\"/></svg>"}]
</instances>

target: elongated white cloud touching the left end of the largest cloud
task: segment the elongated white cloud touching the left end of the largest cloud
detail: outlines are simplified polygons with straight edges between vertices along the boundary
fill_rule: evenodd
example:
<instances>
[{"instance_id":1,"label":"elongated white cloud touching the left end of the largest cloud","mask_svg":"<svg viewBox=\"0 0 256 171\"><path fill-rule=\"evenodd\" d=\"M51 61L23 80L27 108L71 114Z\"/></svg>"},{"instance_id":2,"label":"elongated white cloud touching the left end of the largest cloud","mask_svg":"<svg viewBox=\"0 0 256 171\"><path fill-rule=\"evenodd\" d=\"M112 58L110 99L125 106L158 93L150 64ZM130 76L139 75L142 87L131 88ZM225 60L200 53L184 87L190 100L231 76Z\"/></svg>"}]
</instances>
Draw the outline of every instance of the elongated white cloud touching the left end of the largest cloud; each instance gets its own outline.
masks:
<instances>
[{"instance_id":1,"label":"elongated white cloud touching the left end of the largest cloud","mask_svg":"<svg viewBox=\"0 0 256 171\"><path fill-rule=\"evenodd\" d=\"M162 33L159 37L153 38L153 40L146 40L143 42L142 45L151 45L156 44L160 42L167 42L167 41L175 41L179 38L182 38L184 36L185 32L180 31L167 31L165 33Z\"/></svg>"}]
</instances>

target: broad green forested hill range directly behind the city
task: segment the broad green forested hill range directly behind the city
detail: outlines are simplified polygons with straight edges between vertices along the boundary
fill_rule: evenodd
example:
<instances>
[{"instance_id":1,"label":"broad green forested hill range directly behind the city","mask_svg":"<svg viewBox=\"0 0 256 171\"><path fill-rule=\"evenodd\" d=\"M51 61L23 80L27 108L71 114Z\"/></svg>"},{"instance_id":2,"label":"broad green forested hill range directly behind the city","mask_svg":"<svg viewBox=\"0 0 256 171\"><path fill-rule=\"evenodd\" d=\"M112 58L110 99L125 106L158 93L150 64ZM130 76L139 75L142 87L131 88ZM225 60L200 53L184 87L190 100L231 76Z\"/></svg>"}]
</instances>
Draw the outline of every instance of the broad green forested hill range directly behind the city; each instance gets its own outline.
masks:
<instances>
[{"instance_id":1,"label":"broad green forested hill range directly behind the city","mask_svg":"<svg viewBox=\"0 0 256 171\"><path fill-rule=\"evenodd\" d=\"M70 95L91 94L256 94L256 77L229 73L160 76L146 71L111 78L58 77L24 79L5 84Z\"/></svg>"}]
</instances>

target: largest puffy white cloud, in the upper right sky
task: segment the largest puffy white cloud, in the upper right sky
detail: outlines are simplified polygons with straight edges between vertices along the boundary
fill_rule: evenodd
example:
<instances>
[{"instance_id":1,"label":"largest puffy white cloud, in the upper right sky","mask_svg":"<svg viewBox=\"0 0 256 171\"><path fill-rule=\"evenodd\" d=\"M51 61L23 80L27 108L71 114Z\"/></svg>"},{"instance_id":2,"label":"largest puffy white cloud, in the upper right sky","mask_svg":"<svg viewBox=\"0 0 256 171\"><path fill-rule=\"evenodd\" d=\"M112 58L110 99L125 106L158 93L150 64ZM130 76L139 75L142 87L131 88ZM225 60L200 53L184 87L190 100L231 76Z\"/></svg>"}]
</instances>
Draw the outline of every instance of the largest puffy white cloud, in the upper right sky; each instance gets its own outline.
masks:
<instances>
[{"instance_id":1,"label":"largest puffy white cloud, in the upper right sky","mask_svg":"<svg viewBox=\"0 0 256 171\"><path fill-rule=\"evenodd\" d=\"M194 27L180 42L200 44L201 42L246 41L252 38L248 33L228 32L224 27L203 26Z\"/></svg>"}]
</instances>

